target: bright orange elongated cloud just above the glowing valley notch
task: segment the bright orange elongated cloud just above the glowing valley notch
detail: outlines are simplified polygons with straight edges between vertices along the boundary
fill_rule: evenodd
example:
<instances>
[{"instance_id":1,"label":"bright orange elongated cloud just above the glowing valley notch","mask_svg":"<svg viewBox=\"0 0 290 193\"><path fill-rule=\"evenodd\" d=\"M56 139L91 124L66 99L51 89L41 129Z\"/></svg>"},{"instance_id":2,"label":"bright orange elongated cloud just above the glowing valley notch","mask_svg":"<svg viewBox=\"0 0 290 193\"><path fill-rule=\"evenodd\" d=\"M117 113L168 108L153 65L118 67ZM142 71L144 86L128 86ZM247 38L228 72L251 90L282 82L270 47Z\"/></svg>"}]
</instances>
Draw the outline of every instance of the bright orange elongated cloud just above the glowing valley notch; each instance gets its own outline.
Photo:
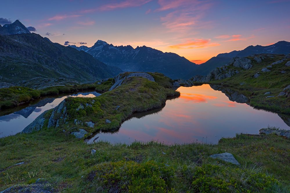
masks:
<instances>
[{"instance_id":1,"label":"bright orange elongated cloud just above the glowing valley notch","mask_svg":"<svg viewBox=\"0 0 290 193\"><path fill-rule=\"evenodd\" d=\"M194 48L207 48L219 45L220 45L219 43L210 42L210 39L194 39L193 41L187 41L186 43L170 45L169 48L194 49Z\"/></svg>"}]
</instances>

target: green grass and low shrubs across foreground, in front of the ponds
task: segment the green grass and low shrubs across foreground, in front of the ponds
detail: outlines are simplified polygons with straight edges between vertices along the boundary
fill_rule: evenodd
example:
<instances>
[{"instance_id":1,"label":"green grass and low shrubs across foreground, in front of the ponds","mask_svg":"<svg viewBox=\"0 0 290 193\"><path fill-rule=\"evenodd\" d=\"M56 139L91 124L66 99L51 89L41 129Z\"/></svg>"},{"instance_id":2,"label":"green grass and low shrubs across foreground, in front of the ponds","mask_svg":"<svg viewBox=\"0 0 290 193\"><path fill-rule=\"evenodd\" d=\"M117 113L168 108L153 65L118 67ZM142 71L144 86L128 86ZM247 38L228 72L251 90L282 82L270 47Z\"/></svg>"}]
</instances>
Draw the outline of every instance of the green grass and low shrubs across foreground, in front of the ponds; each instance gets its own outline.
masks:
<instances>
[{"instance_id":1,"label":"green grass and low shrubs across foreground, in front of the ponds","mask_svg":"<svg viewBox=\"0 0 290 193\"><path fill-rule=\"evenodd\" d=\"M275 135L239 134L217 145L87 145L46 129L0 139L0 152L0 190L38 178L56 192L288 192L290 183L289 139ZM232 153L241 167L209 157L223 152ZM33 171L46 174L31 176ZM11 181L12 175L24 178Z\"/></svg>"}]
</instances>

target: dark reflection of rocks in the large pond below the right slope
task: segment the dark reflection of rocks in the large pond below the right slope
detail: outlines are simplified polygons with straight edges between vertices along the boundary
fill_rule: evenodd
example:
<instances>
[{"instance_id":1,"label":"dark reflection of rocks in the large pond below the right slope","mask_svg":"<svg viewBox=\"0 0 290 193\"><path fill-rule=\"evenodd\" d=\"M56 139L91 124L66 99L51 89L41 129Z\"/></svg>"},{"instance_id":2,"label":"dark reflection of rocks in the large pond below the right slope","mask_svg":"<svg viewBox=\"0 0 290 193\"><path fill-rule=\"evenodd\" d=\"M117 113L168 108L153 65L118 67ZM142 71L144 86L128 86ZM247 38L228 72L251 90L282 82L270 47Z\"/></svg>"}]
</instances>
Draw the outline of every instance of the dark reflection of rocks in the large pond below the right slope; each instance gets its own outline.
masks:
<instances>
[{"instance_id":1,"label":"dark reflection of rocks in the large pond below the right slope","mask_svg":"<svg viewBox=\"0 0 290 193\"><path fill-rule=\"evenodd\" d=\"M217 84L211 84L210 87L213 90L218 90L226 94L226 96L228 97L228 99L230 99L230 101L235 101L237 103L246 103L249 101L249 99L244 94L240 94L237 91L232 90L230 88L225 88Z\"/></svg>"}]
</instances>

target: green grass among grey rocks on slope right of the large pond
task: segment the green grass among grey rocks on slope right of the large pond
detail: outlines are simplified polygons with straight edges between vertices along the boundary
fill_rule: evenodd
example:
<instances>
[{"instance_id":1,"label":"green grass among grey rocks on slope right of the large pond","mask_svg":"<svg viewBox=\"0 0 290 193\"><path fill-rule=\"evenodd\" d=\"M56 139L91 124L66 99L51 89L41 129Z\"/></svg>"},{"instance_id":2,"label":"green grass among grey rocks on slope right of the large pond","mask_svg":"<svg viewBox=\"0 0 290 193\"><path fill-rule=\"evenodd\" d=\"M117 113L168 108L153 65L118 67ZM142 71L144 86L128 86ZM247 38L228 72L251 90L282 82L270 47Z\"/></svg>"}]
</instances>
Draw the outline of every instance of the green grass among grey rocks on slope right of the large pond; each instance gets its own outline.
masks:
<instances>
[{"instance_id":1,"label":"green grass among grey rocks on slope right of the large pond","mask_svg":"<svg viewBox=\"0 0 290 193\"><path fill-rule=\"evenodd\" d=\"M227 79L213 80L210 83L222 84L224 87L230 87L233 90L243 92L243 94L251 98L250 104L256 108L290 114L289 97L278 97L278 94L290 84L290 67L285 65L290 59L280 64L272 65L272 68L269 68L271 72L261 71L262 68L284 57L284 55L279 54L273 56L273 58L266 57L266 59L262 60L262 63L256 63L253 60L254 57L248 57L252 60L253 67L251 69L243 70L242 68L228 66L228 68L233 70L239 70L240 73ZM286 73L282 74L282 70ZM261 75L255 79L253 76L257 72L260 72ZM245 84L240 85L240 83ZM266 95L264 95L266 92L271 92L268 96L274 97L266 98Z\"/></svg>"}]
</instances>

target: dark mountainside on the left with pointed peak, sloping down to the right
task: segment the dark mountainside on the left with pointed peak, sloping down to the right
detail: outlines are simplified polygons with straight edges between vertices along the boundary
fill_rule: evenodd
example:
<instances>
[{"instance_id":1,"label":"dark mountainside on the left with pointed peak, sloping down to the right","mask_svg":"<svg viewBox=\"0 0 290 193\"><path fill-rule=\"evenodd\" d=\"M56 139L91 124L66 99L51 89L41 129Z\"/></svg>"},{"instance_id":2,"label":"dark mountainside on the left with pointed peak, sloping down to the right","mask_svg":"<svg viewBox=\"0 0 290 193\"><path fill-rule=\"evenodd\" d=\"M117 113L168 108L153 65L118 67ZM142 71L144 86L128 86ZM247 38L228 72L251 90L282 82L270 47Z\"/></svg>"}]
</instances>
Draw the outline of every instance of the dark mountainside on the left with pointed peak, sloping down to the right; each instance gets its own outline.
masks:
<instances>
[{"instance_id":1,"label":"dark mountainside on the left with pointed peak, sloping down to the right","mask_svg":"<svg viewBox=\"0 0 290 193\"><path fill-rule=\"evenodd\" d=\"M122 72L86 52L27 32L18 20L1 27L1 32L2 28L13 34L0 35L0 82L17 83L35 77L64 77L87 83L114 77Z\"/></svg>"}]
</instances>

